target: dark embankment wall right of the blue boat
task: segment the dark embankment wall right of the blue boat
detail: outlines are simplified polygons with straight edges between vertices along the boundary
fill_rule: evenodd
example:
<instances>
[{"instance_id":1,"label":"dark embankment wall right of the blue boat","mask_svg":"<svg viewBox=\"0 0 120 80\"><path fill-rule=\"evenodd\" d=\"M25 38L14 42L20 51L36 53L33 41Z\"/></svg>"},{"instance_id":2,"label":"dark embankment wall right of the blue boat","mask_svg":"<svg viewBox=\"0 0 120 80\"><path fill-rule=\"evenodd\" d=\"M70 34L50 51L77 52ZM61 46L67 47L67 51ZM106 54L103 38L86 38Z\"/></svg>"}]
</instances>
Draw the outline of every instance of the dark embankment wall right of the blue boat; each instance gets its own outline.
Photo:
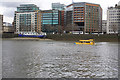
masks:
<instances>
[{"instance_id":1,"label":"dark embankment wall right of the blue boat","mask_svg":"<svg viewBox=\"0 0 120 80\"><path fill-rule=\"evenodd\" d=\"M79 41L80 39L95 39L96 42L118 42L118 35L95 35L95 34L48 34L46 38L57 41Z\"/></svg>"}]
</instances>

